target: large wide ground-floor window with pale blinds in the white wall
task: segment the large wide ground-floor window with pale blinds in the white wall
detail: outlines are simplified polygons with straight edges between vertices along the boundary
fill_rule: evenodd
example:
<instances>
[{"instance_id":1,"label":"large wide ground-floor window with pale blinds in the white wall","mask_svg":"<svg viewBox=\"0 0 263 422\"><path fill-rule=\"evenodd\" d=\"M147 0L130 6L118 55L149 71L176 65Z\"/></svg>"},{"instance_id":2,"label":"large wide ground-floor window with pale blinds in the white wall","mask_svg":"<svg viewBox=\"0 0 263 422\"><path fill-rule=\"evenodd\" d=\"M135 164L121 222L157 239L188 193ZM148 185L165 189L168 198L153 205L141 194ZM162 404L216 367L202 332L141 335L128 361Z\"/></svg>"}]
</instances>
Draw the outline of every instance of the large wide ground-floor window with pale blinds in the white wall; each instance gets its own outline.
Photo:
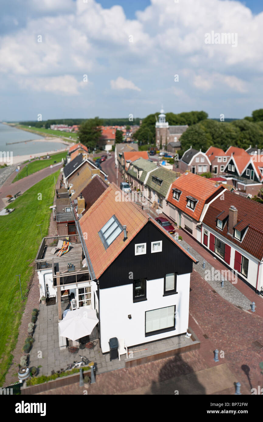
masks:
<instances>
[{"instance_id":1,"label":"large wide ground-floor window with pale blinds in the white wall","mask_svg":"<svg viewBox=\"0 0 263 422\"><path fill-rule=\"evenodd\" d=\"M175 305L145 312L145 336L175 330Z\"/></svg>"}]
</instances>

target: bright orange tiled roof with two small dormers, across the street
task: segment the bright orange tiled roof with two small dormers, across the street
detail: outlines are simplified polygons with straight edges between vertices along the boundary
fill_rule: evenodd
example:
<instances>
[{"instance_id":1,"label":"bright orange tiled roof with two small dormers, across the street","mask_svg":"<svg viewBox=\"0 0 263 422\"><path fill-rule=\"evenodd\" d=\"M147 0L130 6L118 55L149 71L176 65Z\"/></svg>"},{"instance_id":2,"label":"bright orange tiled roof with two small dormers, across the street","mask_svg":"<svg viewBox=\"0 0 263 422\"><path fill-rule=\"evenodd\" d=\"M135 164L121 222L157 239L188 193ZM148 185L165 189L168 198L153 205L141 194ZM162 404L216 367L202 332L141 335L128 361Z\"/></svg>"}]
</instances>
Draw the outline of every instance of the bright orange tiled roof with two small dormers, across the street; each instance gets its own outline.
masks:
<instances>
[{"instance_id":1,"label":"bright orange tiled roof with two small dormers, across the street","mask_svg":"<svg viewBox=\"0 0 263 422\"><path fill-rule=\"evenodd\" d=\"M173 198L173 189L178 189L182 192L179 200ZM225 187L222 187L222 185L216 186L214 181L205 177L193 173L184 173L173 182L167 200L176 208L184 211L185 214L199 221L205 202L216 192L219 193L223 189ZM186 206L188 196L198 200L194 210Z\"/></svg>"}]
</instances>

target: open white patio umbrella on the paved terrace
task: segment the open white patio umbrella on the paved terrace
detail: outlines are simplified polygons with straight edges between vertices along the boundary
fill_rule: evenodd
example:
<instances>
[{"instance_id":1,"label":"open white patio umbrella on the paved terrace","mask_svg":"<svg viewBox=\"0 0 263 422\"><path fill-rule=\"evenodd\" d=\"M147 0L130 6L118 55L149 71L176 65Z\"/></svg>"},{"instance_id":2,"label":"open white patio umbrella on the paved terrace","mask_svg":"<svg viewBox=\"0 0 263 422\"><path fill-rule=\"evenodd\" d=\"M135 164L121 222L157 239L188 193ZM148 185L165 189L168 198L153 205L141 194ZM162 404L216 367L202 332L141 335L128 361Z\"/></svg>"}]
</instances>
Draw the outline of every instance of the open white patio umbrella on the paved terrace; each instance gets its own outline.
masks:
<instances>
[{"instance_id":1,"label":"open white patio umbrella on the paved terrace","mask_svg":"<svg viewBox=\"0 0 263 422\"><path fill-rule=\"evenodd\" d=\"M71 340L77 340L92 333L99 319L96 316L95 309L89 309L86 306L68 312L66 317L58 323L60 326L60 336Z\"/></svg>"}]
</instances>

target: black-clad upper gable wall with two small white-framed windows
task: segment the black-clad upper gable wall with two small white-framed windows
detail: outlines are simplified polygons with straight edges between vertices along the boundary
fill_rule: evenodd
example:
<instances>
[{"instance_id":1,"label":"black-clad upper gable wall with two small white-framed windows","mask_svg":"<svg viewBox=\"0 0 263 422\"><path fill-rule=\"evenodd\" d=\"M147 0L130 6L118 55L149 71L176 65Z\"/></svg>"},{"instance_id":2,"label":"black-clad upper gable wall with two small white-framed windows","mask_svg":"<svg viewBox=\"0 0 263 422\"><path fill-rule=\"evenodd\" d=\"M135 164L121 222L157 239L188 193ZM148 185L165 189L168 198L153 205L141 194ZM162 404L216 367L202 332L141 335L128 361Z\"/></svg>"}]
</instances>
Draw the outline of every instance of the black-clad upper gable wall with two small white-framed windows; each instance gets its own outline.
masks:
<instances>
[{"instance_id":1,"label":"black-clad upper gable wall with two small white-framed windows","mask_svg":"<svg viewBox=\"0 0 263 422\"><path fill-rule=\"evenodd\" d=\"M127 236L129 238L129 231ZM151 253L151 242L156 241L162 241L162 252ZM137 243L146 243L146 254L135 255ZM191 273L192 268L192 260L152 222L148 222L99 278L99 288L131 284L133 279L159 279L168 273Z\"/></svg>"}]
</instances>

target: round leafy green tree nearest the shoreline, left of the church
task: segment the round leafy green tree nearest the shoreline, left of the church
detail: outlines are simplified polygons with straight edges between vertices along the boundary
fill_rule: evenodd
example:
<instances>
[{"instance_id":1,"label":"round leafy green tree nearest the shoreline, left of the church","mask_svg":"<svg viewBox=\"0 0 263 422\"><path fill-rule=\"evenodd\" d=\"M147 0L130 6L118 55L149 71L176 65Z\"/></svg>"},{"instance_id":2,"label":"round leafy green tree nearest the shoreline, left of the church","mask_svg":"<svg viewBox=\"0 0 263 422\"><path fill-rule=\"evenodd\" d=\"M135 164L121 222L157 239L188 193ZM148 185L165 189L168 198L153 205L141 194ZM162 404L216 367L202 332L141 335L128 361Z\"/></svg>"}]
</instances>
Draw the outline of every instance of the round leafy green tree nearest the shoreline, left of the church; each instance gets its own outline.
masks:
<instances>
[{"instance_id":1,"label":"round leafy green tree nearest the shoreline, left of the church","mask_svg":"<svg viewBox=\"0 0 263 422\"><path fill-rule=\"evenodd\" d=\"M79 126L79 142L88 146L89 149L94 149L99 143L101 137L101 119L95 117L88 119Z\"/></svg>"}]
</instances>

